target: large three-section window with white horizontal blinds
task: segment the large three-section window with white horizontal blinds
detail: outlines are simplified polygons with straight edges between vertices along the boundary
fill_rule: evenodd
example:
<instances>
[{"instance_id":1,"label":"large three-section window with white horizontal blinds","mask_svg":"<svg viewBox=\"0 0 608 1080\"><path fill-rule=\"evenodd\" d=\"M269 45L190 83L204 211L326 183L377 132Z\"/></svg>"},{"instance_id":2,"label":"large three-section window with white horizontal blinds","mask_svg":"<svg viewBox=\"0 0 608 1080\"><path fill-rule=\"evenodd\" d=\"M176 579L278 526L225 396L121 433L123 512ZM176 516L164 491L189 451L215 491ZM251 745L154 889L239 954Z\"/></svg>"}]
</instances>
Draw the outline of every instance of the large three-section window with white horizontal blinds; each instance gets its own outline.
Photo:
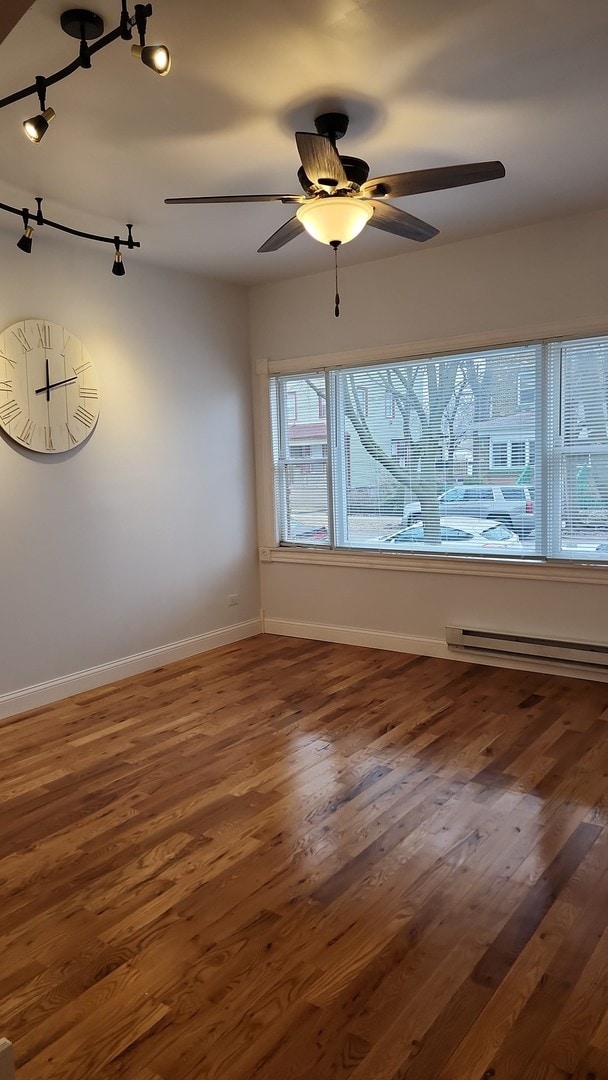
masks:
<instances>
[{"instance_id":1,"label":"large three-section window with white horizontal blinds","mask_svg":"<svg viewBox=\"0 0 608 1080\"><path fill-rule=\"evenodd\" d=\"M271 379L286 544L608 559L608 338Z\"/></svg>"}]
</instances>

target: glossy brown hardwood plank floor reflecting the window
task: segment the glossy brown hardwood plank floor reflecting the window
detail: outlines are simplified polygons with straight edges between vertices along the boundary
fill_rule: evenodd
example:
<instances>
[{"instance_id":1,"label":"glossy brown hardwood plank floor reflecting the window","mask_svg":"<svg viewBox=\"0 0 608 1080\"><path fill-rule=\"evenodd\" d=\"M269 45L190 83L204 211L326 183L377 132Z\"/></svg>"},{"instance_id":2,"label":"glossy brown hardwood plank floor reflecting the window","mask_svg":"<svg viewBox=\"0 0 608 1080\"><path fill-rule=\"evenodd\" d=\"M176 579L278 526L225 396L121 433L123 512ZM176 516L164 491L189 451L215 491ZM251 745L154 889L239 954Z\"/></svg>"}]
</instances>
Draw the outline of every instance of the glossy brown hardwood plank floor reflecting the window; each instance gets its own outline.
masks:
<instances>
[{"instance_id":1,"label":"glossy brown hardwood plank floor reflecting the window","mask_svg":"<svg viewBox=\"0 0 608 1080\"><path fill-rule=\"evenodd\" d=\"M258 637L0 728L18 1080L608 1080L608 686Z\"/></svg>"}]
</instances>

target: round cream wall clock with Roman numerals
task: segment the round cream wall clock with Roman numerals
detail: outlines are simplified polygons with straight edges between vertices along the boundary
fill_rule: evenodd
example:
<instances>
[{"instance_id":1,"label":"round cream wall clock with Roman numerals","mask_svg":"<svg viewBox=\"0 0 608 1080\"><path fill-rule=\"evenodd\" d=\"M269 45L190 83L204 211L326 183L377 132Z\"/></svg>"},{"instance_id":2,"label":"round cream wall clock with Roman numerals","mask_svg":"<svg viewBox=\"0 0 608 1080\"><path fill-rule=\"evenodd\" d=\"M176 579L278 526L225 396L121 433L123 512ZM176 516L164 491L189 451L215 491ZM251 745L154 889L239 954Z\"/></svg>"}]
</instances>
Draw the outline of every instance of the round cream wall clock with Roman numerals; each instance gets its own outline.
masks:
<instances>
[{"instance_id":1,"label":"round cream wall clock with Roman numerals","mask_svg":"<svg viewBox=\"0 0 608 1080\"><path fill-rule=\"evenodd\" d=\"M44 319L0 334L0 428L40 454L82 443L99 416L95 365L81 341Z\"/></svg>"}]
</instances>

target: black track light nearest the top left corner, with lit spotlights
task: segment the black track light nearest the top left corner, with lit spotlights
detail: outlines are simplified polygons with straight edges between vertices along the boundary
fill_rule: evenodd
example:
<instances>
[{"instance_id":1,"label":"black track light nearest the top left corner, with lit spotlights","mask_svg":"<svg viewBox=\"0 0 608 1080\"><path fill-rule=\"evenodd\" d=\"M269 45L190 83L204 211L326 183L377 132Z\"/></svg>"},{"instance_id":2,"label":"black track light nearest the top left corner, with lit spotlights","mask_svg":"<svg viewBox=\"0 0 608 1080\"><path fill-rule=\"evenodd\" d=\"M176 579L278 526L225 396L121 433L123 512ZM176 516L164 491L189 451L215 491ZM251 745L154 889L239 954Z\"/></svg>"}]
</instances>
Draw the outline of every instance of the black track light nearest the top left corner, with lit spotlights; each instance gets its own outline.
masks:
<instances>
[{"instance_id":1,"label":"black track light nearest the top left corner, with lit spotlights","mask_svg":"<svg viewBox=\"0 0 608 1080\"><path fill-rule=\"evenodd\" d=\"M133 27L136 27L139 36L139 44L132 48L133 54L140 58L141 63L146 67L151 68L152 71L157 71L159 75L167 75L171 69L171 54L166 45L146 44L146 29L148 18L151 14L151 3L138 3L135 4L134 14L130 15L126 0L121 0L120 23L113 30L104 35L104 19L100 15L96 15L95 12L86 11L83 8L70 8L68 11L65 11L60 16L62 29L71 38L77 38L80 42L78 56L71 64L68 64L59 71L55 71L54 75L46 77L39 75L31 86L25 86L24 90L18 90L15 94L10 94L8 97L0 99L0 109L3 109L6 105L13 105L14 102L21 102L31 94L38 94L40 112L26 120L23 126L25 134L31 143L40 143L49 130L51 120L55 116L53 109L46 108L46 87L60 82L62 79L66 79L68 75L72 75L79 68L90 68L91 57L118 38L122 38L123 41L131 41ZM92 41L94 44L90 44Z\"/></svg>"}]
</instances>

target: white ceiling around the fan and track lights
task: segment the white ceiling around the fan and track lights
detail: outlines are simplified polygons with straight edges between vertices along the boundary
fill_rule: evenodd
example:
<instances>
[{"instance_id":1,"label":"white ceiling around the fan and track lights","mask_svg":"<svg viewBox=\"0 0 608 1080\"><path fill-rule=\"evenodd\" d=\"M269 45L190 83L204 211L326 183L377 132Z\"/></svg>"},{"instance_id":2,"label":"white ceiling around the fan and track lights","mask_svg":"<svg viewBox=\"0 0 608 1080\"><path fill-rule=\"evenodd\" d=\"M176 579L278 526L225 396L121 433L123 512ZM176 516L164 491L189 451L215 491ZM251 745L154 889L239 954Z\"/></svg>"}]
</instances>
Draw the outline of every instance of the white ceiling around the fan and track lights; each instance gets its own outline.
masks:
<instances>
[{"instance_id":1,"label":"white ceiling around the fan and track lights","mask_svg":"<svg viewBox=\"0 0 608 1080\"><path fill-rule=\"evenodd\" d=\"M9 33L0 97L76 56L59 27L67 6L37 0ZM93 10L106 30L118 25L120 0ZM141 252L130 264L242 283L329 269L332 253L307 234L257 254L289 206L163 199L297 192L293 133L339 108L351 118L339 150L366 159L370 176L503 161L503 180L395 202L441 230L430 245L608 206L606 0L154 0L148 42L160 41L167 78L119 40L51 87L57 116L39 146L21 131L36 97L0 110L1 202L33 207L40 194L50 218L93 232L133 221ZM417 247L366 228L341 261Z\"/></svg>"}]
</instances>

